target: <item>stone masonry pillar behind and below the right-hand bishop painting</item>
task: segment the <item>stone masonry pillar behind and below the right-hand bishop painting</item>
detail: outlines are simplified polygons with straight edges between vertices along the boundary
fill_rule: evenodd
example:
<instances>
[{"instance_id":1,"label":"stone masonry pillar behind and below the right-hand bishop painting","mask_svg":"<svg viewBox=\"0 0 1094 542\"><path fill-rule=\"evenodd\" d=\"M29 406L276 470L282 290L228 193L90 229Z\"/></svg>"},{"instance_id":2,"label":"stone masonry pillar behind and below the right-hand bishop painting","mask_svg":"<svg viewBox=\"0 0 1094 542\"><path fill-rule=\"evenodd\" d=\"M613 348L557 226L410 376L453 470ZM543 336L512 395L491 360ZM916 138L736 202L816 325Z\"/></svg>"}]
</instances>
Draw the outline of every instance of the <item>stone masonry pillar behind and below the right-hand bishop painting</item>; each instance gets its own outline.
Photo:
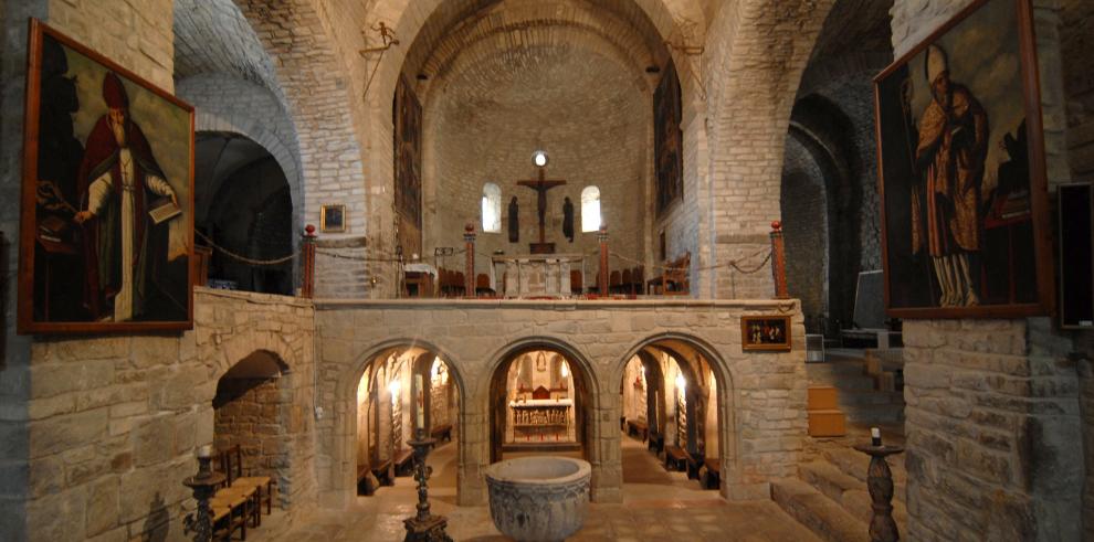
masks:
<instances>
[{"instance_id":1,"label":"stone masonry pillar behind and below the right-hand bishop painting","mask_svg":"<svg viewBox=\"0 0 1094 542\"><path fill-rule=\"evenodd\" d=\"M895 56L966 4L894 4ZM1033 4L1052 193L1070 176L1059 2ZM904 330L909 536L1079 540L1083 428L1070 337L1043 318L906 321Z\"/></svg>"}]
</instances>

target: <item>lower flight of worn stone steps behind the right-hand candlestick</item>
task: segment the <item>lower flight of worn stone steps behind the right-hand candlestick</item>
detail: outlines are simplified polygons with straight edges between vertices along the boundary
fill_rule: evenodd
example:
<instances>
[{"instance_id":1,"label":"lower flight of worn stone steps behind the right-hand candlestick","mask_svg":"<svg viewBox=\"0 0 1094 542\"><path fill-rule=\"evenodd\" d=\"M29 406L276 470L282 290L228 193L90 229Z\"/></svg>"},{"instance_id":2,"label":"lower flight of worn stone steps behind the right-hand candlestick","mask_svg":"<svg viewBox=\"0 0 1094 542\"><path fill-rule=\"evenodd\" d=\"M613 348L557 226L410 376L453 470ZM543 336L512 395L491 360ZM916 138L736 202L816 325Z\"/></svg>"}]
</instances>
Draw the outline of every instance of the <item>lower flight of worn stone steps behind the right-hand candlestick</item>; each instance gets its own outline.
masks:
<instances>
[{"instance_id":1,"label":"lower flight of worn stone steps behind the right-hand candlestick","mask_svg":"<svg viewBox=\"0 0 1094 542\"><path fill-rule=\"evenodd\" d=\"M883 427L883 437L891 444L902 444L898 427ZM866 490L870 457L851 448L867 442L869 428L853 427L846 437L810 439L798 467L798 478L771 482L771 499L817 536L830 542L870 540L870 518L873 513ZM893 519L901 533L907 524L905 496L907 474L904 455L888 458L893 471Z\"/></svg>"}]
</instances>

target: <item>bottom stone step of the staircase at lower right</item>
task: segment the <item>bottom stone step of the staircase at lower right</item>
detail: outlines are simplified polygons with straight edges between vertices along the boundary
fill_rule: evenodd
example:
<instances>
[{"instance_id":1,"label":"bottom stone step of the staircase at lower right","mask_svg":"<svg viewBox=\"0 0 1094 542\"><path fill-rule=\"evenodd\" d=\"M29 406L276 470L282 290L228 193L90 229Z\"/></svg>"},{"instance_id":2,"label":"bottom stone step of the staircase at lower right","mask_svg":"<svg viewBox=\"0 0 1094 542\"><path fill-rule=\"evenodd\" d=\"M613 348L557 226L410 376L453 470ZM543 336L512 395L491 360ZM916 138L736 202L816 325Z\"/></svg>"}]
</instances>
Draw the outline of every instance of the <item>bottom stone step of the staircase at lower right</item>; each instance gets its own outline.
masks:
<instances>
[{"instance_id":1,"label":"bottom stone step of the staircase at lower right","mask_svg":"<svg viewBox=\"0 0 1094 542\"><path fill-rule=\"evenodd\" d=\"M791 518L829 542L865 542L869 527L812 486L796 479L771 481L771 500Z\"/></svg>"}]
</instances>

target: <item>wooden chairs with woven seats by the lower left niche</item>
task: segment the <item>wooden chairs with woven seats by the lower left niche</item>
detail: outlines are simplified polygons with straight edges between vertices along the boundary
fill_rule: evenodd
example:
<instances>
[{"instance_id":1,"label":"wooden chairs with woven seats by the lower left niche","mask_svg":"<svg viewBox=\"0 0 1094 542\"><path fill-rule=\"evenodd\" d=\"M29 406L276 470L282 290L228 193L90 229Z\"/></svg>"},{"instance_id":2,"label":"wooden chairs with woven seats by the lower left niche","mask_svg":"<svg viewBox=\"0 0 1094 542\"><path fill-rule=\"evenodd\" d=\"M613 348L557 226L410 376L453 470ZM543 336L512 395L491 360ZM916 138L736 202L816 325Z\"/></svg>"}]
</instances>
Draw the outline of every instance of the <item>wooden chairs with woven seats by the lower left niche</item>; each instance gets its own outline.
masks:
<instances>
[{"instance_id":1,"label":"wooden chairs with woven seats by the lower left niche","mask_svg":"<svg viewBox=\"0 0 1094 542\"><path fill-rule=\"evenodd\" d=\"M273 511L273 492L277 481L269 476L243 476L243 453L239 445L221 451L218 470L224 483L209 499L214 536L231 540L236 531L246 540L246 528L262 525L262 504L266 514Z\"/></svg>"}]
</instances>

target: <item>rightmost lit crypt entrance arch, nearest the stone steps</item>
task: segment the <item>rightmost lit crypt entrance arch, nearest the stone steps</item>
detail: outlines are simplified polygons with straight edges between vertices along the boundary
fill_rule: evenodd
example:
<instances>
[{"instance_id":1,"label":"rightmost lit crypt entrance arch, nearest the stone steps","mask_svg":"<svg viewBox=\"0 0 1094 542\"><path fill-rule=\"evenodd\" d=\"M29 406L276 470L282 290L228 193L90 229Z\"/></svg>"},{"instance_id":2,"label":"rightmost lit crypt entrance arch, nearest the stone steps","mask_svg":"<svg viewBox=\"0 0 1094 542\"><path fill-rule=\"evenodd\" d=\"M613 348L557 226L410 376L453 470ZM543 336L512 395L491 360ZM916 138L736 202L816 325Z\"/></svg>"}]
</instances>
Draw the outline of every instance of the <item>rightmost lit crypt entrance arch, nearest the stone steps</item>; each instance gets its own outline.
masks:
<instances>
[{"instance_id":1,"label":"rightmost lit crypt entrance arch, nearest the stone steps","mask_svg":"<svg viewBox=\"0 0 1094 542\"><path fill-rule=\"evenodd\" d=\"M621 482L670 483L670 477L645 471L649 460L638 455L653 455L664 465L669 449L679 447L686 453L680 469L696 480L695 489L728 496L737 478L736 394L716 350L694 337L664 333L631 349L616 371L621 438L631 439L621 440Z\"/></svg>"}]
</instances>

